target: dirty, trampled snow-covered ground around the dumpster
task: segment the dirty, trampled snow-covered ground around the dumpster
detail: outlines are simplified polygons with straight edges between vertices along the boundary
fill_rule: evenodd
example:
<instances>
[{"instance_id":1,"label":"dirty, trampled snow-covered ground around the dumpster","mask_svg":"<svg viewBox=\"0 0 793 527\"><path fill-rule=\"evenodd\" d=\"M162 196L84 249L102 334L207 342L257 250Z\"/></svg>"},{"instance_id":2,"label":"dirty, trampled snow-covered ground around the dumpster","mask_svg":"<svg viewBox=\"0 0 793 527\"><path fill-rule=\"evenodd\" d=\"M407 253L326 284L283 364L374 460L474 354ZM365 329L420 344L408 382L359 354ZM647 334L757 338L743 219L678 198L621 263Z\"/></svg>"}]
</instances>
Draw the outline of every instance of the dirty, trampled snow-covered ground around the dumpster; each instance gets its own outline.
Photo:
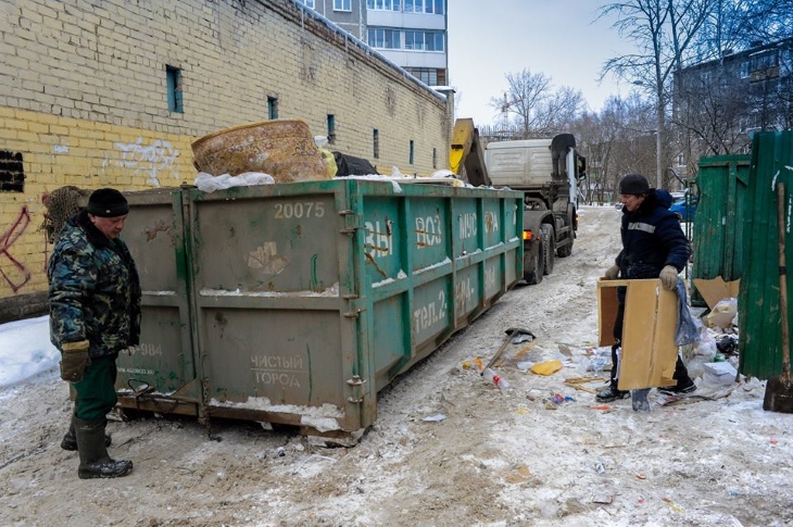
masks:
<instances>
[{"instance_id":1,"label":"dirty, trampled snow-covered ground around the dumpster","mask_svg":"<svg viewBox=\"0 0 793 527\"><path fill-rule=\"evenodd\" d=\"M584 208L572 255L381 390L349 449L238 422L213 422L215 441L194 419L149 416L109 425L131 475L79 480L77 454L59 447L71 403L47 319L0 326L0 525L793 525L793 415L763 411L764 382L665 406L653 391L649 413L564 382L596 347L595 284L619 214ZM507 348L501 391L464 364L487 362L508 327L538 339L520 357L525 344ZM550 359L565 367L516 367Z\"/></svg>"}]
</instances>

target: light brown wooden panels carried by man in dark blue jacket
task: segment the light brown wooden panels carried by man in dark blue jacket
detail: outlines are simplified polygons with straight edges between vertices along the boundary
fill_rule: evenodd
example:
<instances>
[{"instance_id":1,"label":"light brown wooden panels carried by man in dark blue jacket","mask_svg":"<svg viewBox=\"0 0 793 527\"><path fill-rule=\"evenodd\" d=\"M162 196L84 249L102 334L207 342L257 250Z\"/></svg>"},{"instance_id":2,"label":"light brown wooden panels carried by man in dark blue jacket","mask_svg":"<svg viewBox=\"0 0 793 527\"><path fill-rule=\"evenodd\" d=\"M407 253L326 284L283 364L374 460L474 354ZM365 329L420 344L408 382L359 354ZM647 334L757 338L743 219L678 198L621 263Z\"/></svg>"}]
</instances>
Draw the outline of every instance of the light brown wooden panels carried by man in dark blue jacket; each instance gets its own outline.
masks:
<instances>
[{"instance_id":1,"label":"light brown wooden panels carried by man in dark blue jacket","mask_svg":"<svg viewBox=\"0 0 793 527\"><path fill-rule=\"evenodd\" d=\"M606 280L597 283L597 326L600 346L614 343L617 316L617 287L627 288L622 323L620 390L674 386L678 347L675 329L678 297L664 289L658 279Z\"/></svg>"}]
</instances>

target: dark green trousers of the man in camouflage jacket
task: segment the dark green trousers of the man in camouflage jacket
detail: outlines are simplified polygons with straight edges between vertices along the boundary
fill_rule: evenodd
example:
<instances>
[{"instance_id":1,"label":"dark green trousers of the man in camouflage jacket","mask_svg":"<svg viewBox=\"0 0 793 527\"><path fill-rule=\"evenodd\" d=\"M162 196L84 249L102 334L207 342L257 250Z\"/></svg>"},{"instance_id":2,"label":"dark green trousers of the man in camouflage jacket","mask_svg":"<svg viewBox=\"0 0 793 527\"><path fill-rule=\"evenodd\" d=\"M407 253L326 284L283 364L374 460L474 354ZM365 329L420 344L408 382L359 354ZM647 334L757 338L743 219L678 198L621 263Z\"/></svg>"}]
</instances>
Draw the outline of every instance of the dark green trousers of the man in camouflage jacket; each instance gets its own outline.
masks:
<instances>
[{"instance_id":1,"label":"dark green trousers of the man in camouflage jacket","mask_svg":"<svg viewBox=\"0 0 793 527\"><path fill-rule=\"evenodd\" d=\"M72 386L77 392L75 416L83 421L99 421L113 410L118 398L115 394L115 356L91 357L83 380Z\"/></svg>"}]
</instances>

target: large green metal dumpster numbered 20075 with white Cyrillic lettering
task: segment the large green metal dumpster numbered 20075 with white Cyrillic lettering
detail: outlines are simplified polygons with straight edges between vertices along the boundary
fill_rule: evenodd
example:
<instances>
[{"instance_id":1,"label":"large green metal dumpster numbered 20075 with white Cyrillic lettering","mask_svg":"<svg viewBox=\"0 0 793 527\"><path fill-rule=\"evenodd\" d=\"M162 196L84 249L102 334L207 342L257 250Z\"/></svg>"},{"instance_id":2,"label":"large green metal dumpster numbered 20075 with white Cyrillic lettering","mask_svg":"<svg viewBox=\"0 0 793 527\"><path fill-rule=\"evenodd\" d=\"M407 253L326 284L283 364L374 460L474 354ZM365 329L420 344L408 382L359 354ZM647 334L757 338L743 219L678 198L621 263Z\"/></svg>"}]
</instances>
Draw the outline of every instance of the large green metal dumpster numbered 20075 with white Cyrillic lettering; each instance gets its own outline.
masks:
<instances>
[{"instance_id":1,"label":"large green metal dumpster numbered 20075 with white Cyrillic lettering","mask_svg":"<svg viewBox=\"0 0 793 527\"><path fill-rule=\"evenodd\" d=\"M523 193L333 179L128 195L122 407L355 440L377 392L521 276Z\"/></svg>"}]
</instances>

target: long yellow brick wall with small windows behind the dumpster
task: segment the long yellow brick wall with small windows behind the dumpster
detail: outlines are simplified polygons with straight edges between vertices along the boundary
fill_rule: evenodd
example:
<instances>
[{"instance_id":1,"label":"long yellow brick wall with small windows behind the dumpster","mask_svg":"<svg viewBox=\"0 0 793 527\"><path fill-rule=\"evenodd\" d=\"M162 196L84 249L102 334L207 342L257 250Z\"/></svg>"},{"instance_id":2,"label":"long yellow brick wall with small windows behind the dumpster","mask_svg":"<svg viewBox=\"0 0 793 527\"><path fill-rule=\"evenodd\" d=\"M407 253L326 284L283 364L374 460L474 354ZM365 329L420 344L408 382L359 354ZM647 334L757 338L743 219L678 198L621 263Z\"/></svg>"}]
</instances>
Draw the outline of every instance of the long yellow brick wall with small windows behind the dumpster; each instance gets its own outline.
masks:
<instances>
[{"instance_id":1,"label":"long yellow brick wall with small windows behind the dumpster","mask_svg":"<svg viewBox=\"0 0 793 527\"><path fill-rule=\"evenodd\" d=\"M190 142L266 120L268 97L314 135L335 115L332 148L382 173L429 174L433 149L449 164L445 100L291 0L17 0L0 37L0 151L25 175L23 192L0 191L0 300L47 288L48 192L192 183ZM184 113L168 111L166 65Z\"/></svg>"}]
</instances>

